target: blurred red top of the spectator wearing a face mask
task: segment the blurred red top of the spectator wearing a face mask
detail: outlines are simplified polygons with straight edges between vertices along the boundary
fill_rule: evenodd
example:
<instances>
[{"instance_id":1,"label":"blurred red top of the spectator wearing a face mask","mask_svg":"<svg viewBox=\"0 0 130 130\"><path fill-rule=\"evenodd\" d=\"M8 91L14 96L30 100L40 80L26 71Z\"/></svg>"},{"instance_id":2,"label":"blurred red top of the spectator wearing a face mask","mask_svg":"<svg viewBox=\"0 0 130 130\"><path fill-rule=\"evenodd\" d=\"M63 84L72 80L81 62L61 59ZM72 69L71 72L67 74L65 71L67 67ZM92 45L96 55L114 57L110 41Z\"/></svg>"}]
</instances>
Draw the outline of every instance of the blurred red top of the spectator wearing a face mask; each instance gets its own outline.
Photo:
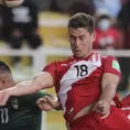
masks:
<instances>
[{"instance_id":1,"label":"blurred red top of the spectator wearing a face mask","mask_svg":"<svg viewBox=\"0 0 130 130\"><path fill-rule=\"evenodd\" d=\"M96 41L94 42L94 48L115 48L119 43L120 32L115 28L110 28L108 31L102 32L96 29ZM102 45L104 44L104 45Z\"/></svg>"}]
</instances>

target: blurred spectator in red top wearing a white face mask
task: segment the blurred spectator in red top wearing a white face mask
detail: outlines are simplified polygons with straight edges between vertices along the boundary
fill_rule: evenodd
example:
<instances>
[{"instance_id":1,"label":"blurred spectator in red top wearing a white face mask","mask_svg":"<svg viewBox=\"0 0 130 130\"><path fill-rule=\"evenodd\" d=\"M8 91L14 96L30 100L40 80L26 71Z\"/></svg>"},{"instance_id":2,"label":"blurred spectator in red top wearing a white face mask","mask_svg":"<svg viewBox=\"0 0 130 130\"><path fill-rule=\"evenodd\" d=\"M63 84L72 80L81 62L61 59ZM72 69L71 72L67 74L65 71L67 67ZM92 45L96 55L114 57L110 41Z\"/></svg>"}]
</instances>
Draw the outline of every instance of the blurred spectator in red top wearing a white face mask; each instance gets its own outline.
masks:
<instances>
[{"instance_id":1,"label":"blurred spectator in red top wearing a white face mask","mask_svg":"<svg viewBox=\"0 0 130 130\"><path fill-rule=\"evenodd\" d=\"M106 10L96 13L96 41L94 48L121 48L122 35L119 30L112 26L111 18Z\"/></svg>"}]
</instances>

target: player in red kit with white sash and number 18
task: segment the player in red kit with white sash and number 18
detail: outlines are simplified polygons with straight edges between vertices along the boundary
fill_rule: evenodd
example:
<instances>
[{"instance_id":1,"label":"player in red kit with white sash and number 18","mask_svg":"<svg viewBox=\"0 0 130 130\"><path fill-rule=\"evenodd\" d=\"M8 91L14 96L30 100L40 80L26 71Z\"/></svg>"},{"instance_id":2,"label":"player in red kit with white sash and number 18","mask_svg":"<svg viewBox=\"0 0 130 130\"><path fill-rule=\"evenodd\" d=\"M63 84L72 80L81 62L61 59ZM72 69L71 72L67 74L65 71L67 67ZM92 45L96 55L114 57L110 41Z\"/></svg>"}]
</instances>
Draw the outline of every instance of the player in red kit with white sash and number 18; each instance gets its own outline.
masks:
<instances>
[{"instance_id":1,"label":"player in red kit with white sash and number 18","mask_svg":"<svg viewBox=\"0 0 130 130\"><path fill-rule=\"evenodd\" d=\"M55 86L71 130L130 130L116 96L120 67L113 56L93 53L95 21L77 13L68 21L73 56L47 65L35 78L0 91L0 105L11 96L28 95Z\"/></svg>"}]
</instances>

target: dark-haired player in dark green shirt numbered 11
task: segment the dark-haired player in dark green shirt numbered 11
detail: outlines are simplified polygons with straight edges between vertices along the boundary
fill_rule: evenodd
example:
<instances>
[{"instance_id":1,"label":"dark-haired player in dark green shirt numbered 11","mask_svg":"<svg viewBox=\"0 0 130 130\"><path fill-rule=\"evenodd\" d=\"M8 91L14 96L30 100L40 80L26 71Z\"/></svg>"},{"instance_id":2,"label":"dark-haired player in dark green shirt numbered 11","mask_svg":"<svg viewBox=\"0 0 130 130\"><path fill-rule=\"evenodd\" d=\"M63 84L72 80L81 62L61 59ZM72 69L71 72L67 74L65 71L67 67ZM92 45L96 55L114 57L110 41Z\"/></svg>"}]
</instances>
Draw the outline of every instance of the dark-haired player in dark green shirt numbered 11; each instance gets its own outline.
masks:
<instances>
[{"instance_id":1,"label":"dark-haired player in dark green shirt numbered 11","mask_svg":"<svg viewBox=\"0 0 130 130\"><path fill-rule=\"evenodd\" d=\"M14 85L9 66L0 61L0 89ZM7 105L0 107L0 130L41 130L41 105L44 105L45 110L51 110L50 105L43 98L45 95L50 99L48 95L43 91L11 97ZM42 101L40 102L40 100ZM50 100L53 101L53 99Z\"/></svg>"}]
</instances>

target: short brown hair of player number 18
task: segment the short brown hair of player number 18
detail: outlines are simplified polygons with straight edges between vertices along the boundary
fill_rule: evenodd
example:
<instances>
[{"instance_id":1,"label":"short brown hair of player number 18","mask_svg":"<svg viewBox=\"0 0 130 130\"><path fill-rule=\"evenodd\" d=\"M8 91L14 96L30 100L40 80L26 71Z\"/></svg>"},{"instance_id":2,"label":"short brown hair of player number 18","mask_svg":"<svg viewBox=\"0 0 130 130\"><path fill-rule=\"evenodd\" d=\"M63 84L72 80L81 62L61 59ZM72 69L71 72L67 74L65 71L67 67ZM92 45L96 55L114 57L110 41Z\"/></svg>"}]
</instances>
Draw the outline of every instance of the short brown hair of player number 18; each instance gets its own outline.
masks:
<instances>
[{"instance_id":1,"label":"short brown hair of player number 18","mask_svg":"<svg viewBox=\"0 0 130 130\"><path fill-rule=\"evenodd\" d=\"M93 33L95 30L95 19L86 13L76 13L68 21L69 28L86 28L89 33Z\"/></svg>"}]
</instances>

